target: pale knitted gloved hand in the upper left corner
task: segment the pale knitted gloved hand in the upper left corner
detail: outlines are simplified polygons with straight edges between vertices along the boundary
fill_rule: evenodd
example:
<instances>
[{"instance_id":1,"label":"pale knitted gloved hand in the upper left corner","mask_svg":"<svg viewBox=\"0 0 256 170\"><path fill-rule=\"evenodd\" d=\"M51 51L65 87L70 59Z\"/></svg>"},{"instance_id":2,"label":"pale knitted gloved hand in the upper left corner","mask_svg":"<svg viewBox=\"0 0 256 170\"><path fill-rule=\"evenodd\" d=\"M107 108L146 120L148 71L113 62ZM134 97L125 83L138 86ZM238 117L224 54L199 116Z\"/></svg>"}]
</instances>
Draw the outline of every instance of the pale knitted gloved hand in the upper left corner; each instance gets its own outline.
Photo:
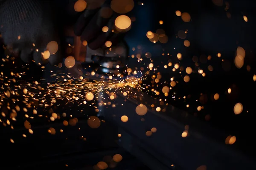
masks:
<instances>
[{"instance_id":1,"label":"pale knitted gloved hand in the upper left corner","mask_svg":"<svg viewBox=\"0 0 256 170\"><path fill-rule=\"evenodd\" d=\"M24 62L59 62L58 34L51 11L49 0L5 0L0 4L0 33L12 55Z\"/></svg>"}]
</instances>

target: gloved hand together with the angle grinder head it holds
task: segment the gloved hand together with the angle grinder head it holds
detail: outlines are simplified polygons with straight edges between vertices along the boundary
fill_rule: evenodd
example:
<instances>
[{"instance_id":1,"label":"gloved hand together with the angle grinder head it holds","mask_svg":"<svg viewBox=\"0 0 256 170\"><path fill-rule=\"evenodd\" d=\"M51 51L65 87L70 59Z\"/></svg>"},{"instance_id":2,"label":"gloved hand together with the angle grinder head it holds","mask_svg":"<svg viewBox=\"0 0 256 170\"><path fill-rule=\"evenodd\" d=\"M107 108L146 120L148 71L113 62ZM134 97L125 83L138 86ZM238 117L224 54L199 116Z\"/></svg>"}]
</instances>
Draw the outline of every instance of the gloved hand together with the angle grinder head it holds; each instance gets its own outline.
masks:
<instances>
[{"instance_id":1,"label":"gloved hand together with the angle grinder head it holds","mask_svg":"<svg viewBox=\"0 0 256 170\"><path fill-rule=\"evenodd\" d=\"M86 41L86 62L98 63L100 68L96 70L99 72L118 74L128 57L128 46L122 37L123 33L131 28L131 20L127 16L125 16L126 20L121 19L120 29L116 26L116 18L131 11L134 1L87 0L86 3L84 2L78 0L74 3L75 11L81 11L74 26L74 33L81 37L81 42ZM120 19L117 25L120 27ZM126 27L123 27L124 25Z\"/></svg>"}]
</instances>

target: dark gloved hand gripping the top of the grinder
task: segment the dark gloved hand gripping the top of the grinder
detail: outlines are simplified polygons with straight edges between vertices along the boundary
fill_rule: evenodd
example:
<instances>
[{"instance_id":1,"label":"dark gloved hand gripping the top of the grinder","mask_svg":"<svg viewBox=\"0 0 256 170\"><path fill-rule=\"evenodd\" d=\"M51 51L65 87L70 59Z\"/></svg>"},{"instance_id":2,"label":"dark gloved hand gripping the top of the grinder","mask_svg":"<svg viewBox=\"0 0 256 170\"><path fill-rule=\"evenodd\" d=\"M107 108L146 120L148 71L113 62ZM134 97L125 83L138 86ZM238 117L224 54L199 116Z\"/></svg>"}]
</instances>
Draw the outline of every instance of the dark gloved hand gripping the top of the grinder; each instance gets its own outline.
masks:
<instances>
[{"instance_id":1,"label":"dark gloved hand gripping the top of the grinder","mask_svg":"<svg viewBox=\"0 0 256 170\"><path fill-rule=\"evenodd\" d=\"M86 2L86 9L75 24L75 34L81 36L81 41L86 40L89 48L93 50L105 47L105 42L107 41L111 41L112 45L116 45L122 39L122 33L124 32L124 30L116 29L116 17L120 13L131 11L134 6L133 0L124 2L119 0L87 0ZM76 3L79 3L79 0ZM79 11L79 9L77 10ZM131 20L128 22L131 22ZM128 29L125 31L128 31Z\"/></svg>"}]
</instances>

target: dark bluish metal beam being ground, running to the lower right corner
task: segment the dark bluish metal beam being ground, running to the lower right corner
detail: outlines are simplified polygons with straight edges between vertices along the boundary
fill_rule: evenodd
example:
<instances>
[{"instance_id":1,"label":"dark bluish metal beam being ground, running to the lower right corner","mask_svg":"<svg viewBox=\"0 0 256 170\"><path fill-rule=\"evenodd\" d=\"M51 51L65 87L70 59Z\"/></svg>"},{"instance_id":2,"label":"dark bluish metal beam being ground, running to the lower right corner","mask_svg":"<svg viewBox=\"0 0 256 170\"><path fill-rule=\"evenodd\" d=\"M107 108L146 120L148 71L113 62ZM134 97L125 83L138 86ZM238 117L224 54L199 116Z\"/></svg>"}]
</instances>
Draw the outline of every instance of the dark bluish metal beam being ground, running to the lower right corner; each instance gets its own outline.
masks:
<instances>
[{"instance_id":1,"label":"dark bluish metal beam being ground, running to the lower right corner","mask_svg":"<svg viewBox=\"0 0 256 170\"><path fill-rule=\"evenodd\" d=\"M214 136L221 132L172 105L166 107L165 113L148 108L144 116L137 115L137 105L154 104L156 100L142 92L135 92L141 97L129 98L126 102L122 93L119 93L115 101L118 105L105 109L103 113L106 121L113 122L125 133L121 146L152 170L157 167L172 169L172 164L175 170L195 170L201 165L206 165L207 170L253 169L256 166L253 160L232 150L224 141L216 141ZM128 116L128 122L120 120L123 115ZM145 121L142 122L140 118ZM190 126L189 135L183 138L181 133L185 125ZM146 136L145 132L152 127L156 127L157 132Z\"/></svg>"}]
</instances>

